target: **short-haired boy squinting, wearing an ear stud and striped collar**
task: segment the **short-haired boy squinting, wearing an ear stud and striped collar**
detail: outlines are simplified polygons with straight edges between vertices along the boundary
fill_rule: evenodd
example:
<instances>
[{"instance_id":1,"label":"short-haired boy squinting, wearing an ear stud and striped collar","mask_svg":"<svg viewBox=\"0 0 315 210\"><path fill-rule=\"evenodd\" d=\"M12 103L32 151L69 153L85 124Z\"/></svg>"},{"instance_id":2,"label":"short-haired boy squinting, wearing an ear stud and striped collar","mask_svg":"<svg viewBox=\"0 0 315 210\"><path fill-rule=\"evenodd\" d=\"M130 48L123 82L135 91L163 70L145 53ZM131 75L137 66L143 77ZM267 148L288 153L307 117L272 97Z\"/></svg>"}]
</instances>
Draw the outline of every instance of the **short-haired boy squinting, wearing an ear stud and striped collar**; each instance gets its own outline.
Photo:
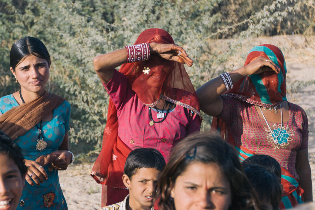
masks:
<instances>
[{"instance_id":1,"label":"short-haired boy squinting, wearing an ear stud and striped collar","mask_svg":"<svg viewBox=\"0 0 315 210\"><path fill-rule=\"evenodd\" d=\"M154 185L164 166L165 160L156 149L139 148L131 151L127 157L123 174L123 183L129 189L129 195L123 201L102 209L154 210Z\"/></svg>"}]
</instances>

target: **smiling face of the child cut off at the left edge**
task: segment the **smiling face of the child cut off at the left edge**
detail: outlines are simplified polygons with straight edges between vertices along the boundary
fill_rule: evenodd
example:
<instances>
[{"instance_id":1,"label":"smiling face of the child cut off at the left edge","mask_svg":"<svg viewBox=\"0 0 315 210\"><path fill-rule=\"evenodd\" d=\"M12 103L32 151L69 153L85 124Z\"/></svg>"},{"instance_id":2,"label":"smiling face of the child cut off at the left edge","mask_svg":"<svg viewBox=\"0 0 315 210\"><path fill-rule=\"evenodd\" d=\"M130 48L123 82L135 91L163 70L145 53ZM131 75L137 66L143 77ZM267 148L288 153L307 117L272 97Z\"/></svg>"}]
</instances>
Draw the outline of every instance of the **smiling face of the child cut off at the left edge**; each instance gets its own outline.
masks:
<instances>
[{"instance_id":1,"label":"smiling face of the child cut off at the left edge","mask_svg":"<svg viewBox=\"0 0 315 210\"><path fill-rule=\"evenodd\" d=\"M0 209L15 210L20 202L25 179L15 162L0 154Z\"/></svg>"}]
</instances>

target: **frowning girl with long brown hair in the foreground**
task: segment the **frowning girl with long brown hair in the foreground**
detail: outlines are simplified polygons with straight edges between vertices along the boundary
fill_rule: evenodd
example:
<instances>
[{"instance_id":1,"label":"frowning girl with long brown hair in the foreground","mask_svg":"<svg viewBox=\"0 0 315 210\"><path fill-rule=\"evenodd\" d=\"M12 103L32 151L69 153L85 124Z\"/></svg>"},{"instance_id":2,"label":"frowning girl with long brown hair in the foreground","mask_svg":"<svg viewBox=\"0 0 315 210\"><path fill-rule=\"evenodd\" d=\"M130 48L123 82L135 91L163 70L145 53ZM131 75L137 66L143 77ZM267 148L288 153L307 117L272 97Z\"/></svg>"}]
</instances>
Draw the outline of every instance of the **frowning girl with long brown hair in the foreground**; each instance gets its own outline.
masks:
<instances>
[{"instance_id":1,"label":"frowning girl with long brown hair in the foreground","mask_svg":"<svg viewBox=\"0 0 315 210\"><path fill-rule=\"evenodd\" d=\"M236 151L214 133L178 143L157 182L160 210L254 210L255 193Z\"/></svg>"}]
</instances>

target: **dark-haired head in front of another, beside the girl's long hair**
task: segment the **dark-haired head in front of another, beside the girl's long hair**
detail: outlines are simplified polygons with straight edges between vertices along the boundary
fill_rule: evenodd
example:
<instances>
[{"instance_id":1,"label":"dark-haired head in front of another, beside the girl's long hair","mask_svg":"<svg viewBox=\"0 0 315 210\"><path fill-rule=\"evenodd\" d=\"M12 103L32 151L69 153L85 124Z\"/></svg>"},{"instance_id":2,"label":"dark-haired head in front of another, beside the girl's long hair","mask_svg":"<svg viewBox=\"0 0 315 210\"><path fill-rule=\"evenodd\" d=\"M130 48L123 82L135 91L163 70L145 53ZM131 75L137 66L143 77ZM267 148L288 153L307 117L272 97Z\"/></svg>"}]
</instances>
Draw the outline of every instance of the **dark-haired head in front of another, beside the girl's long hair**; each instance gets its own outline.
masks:
<instances>
[{"instance_id":1,"label":"dark-haired head in front of another, beside the girl's long hair","mask_svg":"<svg viewBox=\"0 0 315 210\"><path fill-rule=\"evenodd\" d=\"M276 174L269 171L268 168L256 164L246 165L244 171L259 198L266 198L267 201L270 201L272 209L278 210L282 189Z\"/></svg>"}]
</instances>

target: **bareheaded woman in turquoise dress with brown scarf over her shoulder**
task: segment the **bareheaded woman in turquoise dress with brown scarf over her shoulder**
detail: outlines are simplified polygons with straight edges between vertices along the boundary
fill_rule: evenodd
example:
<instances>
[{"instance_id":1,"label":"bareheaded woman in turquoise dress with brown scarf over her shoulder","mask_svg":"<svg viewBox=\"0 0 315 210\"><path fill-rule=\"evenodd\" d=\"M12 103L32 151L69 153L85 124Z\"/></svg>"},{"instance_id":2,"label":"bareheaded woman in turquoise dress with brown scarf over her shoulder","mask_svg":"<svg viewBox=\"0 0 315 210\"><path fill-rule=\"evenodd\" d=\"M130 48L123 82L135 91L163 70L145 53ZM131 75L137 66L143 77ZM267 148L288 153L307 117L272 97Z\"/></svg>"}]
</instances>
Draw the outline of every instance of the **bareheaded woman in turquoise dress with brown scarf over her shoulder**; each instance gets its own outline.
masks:
<instances>
[{"instance_id":1,"label":"bareheaded woman in turquoise dress with brown scarf over her shoulder","mask_svg":"<svg viewBox=\"0 0 315 210\"><path fill-rule=\"evenodd\" d=\"M25 157L27 183L18 209L67 209L57 170L66 170L73 161L68 151L70 105L45 91L51 60L39 39L16 41L10 65L20 90L0 98L0 130L22 148Z\"/></svg>"}]
</instances>

